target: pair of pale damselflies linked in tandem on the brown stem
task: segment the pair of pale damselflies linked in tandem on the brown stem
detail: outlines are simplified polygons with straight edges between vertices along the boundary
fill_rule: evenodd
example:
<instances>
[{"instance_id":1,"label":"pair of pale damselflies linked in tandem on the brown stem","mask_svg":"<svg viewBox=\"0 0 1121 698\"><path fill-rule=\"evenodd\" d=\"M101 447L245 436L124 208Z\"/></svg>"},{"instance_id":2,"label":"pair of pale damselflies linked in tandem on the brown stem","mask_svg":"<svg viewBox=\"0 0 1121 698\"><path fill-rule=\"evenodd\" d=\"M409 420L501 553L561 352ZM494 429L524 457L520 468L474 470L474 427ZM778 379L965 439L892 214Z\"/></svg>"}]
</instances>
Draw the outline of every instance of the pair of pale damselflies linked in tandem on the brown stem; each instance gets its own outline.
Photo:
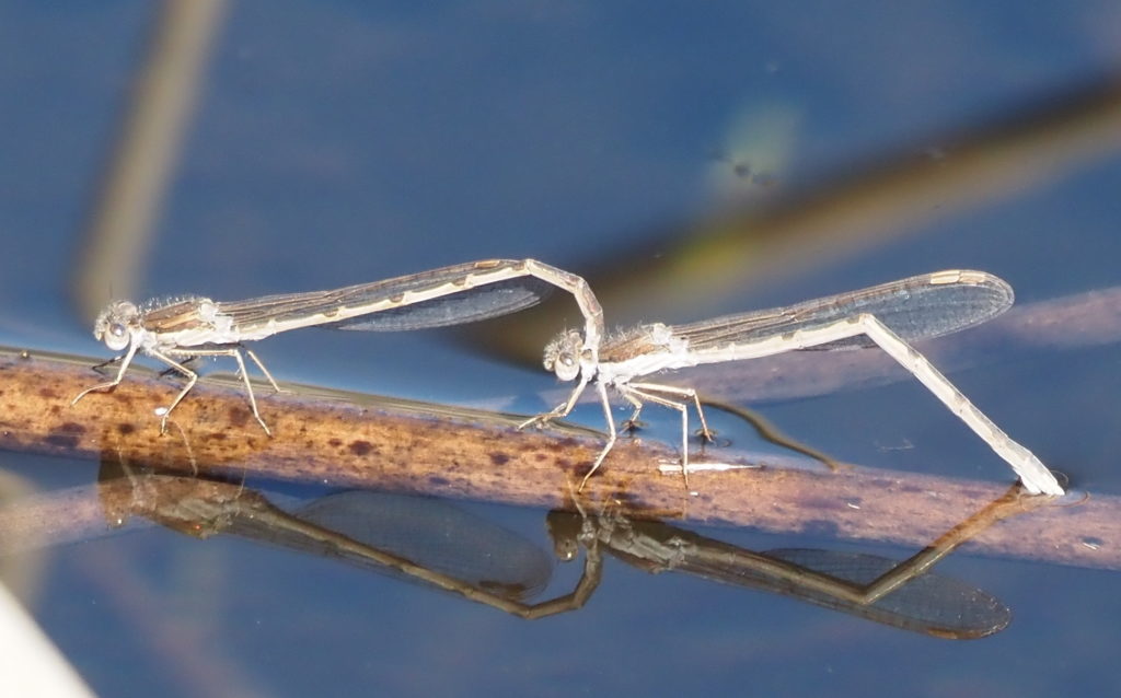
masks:
<instances>
[{"instance_id":1,"label":"pair of pale damselflies linked in tandem on the brown stem","mask_svg":"<svg viewBox=\"0 0 1121 698\"><path fill-rule=\"evenodd\" d=\"M691 404L697 411L703 434L708 434L701 401L692 389L636 379L790 351L876 345L984 439L1012 467L1028 492L1063 494L1055 476L1031 452L1012 440L908 344L964 329L1007 310L1013 299L1011 287L982 271L941 271L784 308L688 325L642 325L606 337L602 308L584 279L536 260L471 262L335 290L232 303L200 297L150 301L143 306L117 301L98 318L94 336L109 348L124 352L120 369L113 380L82 391L73 402L90 392L117 387L137 352L143 352L187 378L186 385L164 410L161 429L166 429L170 411L198 379L184 362L196 356L230 356L238 363L253 417L268 432L242 352L274 388L277 384L243 343L300 327L408 331L457 325L528 308L552 288L574 296L584 327L564 332L548 344L545 367L563 381L577 382L565 402L521 426L566 417L589 383L595 383L606 418L608 440L584 476L582 487L617 439L609 387L633 407L631 422L646 402L680 412L682 472L687 484Z\"/></svg>"}]
</instances>

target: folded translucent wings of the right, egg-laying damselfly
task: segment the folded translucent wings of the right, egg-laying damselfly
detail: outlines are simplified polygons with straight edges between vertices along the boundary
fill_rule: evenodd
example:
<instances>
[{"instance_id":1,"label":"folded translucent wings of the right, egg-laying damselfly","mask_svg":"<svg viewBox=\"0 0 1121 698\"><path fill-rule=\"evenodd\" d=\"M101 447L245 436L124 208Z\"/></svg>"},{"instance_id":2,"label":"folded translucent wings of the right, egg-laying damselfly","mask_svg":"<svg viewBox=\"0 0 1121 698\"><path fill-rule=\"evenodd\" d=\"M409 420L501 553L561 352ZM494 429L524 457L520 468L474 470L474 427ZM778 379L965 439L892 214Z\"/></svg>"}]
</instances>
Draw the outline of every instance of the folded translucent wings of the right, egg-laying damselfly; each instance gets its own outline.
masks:
<instances>
[{"instance_id":1,"label":"folded translucent wings of the right, egg-laying damselfly","mask_svg":"<svg viewBox=\"0 0 1121 698\"><path fill-rule=\"evenodd\" d=\"M805 300L785 308L729 315L669 328L693 351L721 348L831 325L862 313L874 315L904 339L951 334L984 323L1012 305L1012 288L983 271L939 271L858 291ZM813 350L872 346L864 336ZM608 353L605 347L604 353Z\"/></svg>"}]
</instances>

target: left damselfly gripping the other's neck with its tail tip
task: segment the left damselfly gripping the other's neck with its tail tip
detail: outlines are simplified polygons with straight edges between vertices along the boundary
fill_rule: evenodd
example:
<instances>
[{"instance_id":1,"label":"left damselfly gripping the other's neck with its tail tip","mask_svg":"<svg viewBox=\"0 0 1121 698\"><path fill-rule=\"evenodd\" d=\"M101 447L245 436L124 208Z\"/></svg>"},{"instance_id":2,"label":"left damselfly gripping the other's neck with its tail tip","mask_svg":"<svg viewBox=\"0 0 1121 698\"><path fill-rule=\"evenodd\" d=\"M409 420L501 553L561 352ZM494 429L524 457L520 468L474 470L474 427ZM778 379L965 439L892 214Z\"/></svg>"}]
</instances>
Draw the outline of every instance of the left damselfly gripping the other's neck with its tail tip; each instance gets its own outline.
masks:
<instances>
[{"instance_id":1,"label":"left damselfly gripping the other's neck with its tail tip","mask_svg":"<svg viewBox=\"0 0 1121 698\"><path fill-rule=\"evenodd\" d=\"M113 380L83 390L73 403L91 392L115 388L137 352L143 352L187 378L186 385L164 410L160 429L166 430L172 410L198 380L184 362L198 356L231 356L238 363L253 417L268 432L257 410L242 352L274 389L280 389L243 343L302 327L387 332L460 325L536 305L552 287L575 296L585 320L586 345L581 350L594 360L603 323L595 296L582 278L531 259L469 262L340 289L240 301L201 297L142 306L114 301L98 317L93 335L109 348L124 352L119 357L120 369Z\"/></svg>"}]
</instances>

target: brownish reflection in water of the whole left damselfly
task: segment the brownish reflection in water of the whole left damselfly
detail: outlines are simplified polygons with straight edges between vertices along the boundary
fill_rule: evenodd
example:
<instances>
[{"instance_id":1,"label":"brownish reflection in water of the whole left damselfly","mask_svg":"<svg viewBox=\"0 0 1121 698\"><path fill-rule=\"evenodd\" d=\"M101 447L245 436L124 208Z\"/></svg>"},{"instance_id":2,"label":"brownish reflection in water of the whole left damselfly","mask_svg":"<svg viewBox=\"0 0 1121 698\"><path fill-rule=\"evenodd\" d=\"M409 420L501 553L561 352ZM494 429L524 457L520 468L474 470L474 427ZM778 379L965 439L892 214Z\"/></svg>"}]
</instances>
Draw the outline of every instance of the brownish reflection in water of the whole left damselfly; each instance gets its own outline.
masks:
<instances>
[{"instance_id":1,"label":"brownish reflection in water of the whole left damselfly","mask_svg":"<svg viewBox=\"0 0 1121 698\"><path fill-rule=\"evenodd\" d=\"M585 557L581 581L569 594L525 599L544 589L548 557L521 536L441 500L351 491L330 494L287 512L263 495L224 482L137 474L115 462L102 465L108 518L123 523L142 515L195 538L234 534L328 556L362 568L420 581L525 618L578 608L600 583L601 559ZM113 492L106 497L104 493Z\"/></svg>"}]
</instances>

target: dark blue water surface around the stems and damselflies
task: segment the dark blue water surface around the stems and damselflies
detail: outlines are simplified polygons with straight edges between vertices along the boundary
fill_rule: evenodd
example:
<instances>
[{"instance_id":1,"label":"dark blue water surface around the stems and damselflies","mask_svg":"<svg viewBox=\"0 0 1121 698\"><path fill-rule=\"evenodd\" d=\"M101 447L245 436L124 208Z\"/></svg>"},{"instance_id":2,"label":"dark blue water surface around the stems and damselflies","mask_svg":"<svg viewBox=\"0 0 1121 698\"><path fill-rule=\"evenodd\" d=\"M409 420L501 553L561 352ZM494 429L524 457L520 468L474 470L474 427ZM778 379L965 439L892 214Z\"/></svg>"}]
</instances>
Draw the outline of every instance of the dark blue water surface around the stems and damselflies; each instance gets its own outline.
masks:
<instances>
[{"instance_id":1,"label":"dark blue water surface around the stems and damselflies","mask_svg":"<svg viewBox=\"0 0 1121 698\"><path fill-rule=\"evenodd\" d=\"M156 9L0 8L6 343L104 353L70 280ZM648 231L726 203L729 168L714 156L736 150L752 114L780 115L768 174L791 189L877 153L936 149L923 139L1115 69L1119 46L1110 2L235 2L140 286L233 299L487 257L581 271L605 253L655 254ZM874 248L772 273L725 309L947 267L999 273L1021 303L1114 286L1119 190L1115 153L1043 171ZM456 403L534 404L553 385L444 339L296 333L261 351L285 380ZM952 378L1044 460L1115 491L1119 366L1110 346ZM915 385L768 415L843 459L1003 476ZM576 419L597 425L594 408ZM904 439L917 447L881 448ZM41 472L21 458L8 460ZM92 477L89 464L46 465ZM548 545L544 512L474 506ZM939 569L1016 612L998 636L951 643L620 564L585 611L526 623L222 538L151 530L52 557L35 613L104 696L1046 696L1118 685L1114 573L951 559ZM565 581L568 571L554 590Z\"/></svg>"}]
</instances>

